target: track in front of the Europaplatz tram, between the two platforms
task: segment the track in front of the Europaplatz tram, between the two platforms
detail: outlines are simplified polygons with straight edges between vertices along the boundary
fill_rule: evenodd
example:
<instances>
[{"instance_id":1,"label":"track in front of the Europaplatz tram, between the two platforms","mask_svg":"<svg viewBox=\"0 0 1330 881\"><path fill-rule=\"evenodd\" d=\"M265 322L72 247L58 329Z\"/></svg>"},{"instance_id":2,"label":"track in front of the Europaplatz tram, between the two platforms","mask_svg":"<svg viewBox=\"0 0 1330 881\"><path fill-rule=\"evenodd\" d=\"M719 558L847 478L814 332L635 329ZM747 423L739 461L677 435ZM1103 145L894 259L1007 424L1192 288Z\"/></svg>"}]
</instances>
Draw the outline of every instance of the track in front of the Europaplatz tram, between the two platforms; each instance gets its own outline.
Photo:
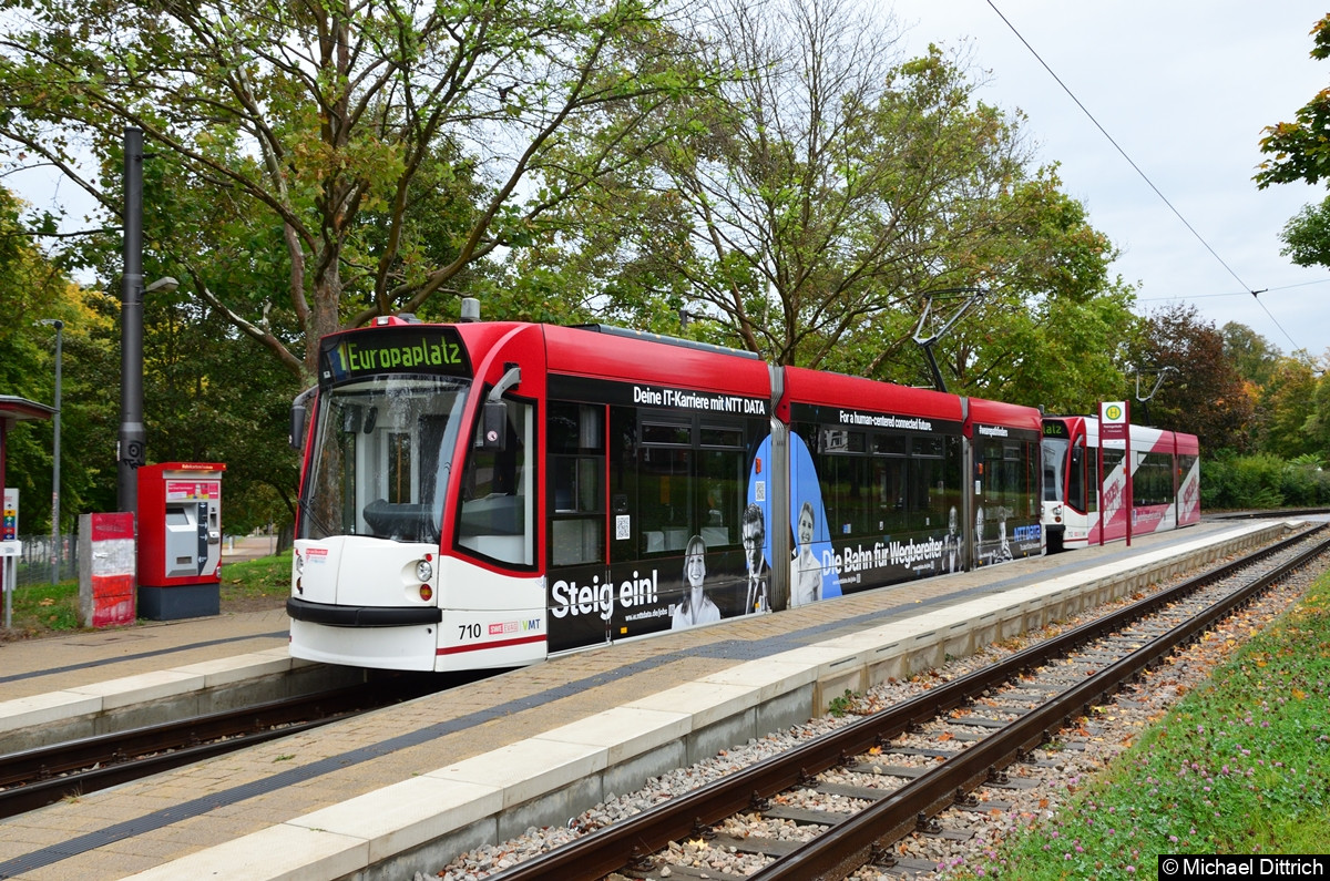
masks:
<instances>
[{"instance_id":1,"label":"track in front of the Europaplatz tram, between the two platforms","mask_svg":"<svg viewBox=\"0 0 1330 881\"><path fill-rule=\"evenodd\" d=\"M0 818L106 789L439 688L400 677L0 756Z\"/></svg>"}]
</instances>

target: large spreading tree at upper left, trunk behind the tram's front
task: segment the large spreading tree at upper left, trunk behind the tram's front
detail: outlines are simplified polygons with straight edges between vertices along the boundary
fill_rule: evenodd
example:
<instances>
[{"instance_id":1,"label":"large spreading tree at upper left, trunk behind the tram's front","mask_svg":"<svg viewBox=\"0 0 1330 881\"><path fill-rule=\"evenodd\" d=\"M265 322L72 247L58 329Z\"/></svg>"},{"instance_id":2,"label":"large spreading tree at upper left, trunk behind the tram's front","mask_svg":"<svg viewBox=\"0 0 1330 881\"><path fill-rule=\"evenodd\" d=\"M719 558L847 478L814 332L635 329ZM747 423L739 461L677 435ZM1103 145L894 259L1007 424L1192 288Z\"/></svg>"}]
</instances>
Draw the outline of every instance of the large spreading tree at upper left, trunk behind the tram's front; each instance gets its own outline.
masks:
<instances>
[{"instance_id":1,"label":"large spreading tree at upper left, trunk behind the tram's front","mask_svg":"<svg viewBox=\"0 0 1330 881\"><path fill-rule=\"evenodd\" d=\"M149 232L161 257L309 381L319 335L455 297L471 267L529 241L630 158L560 150L569 126L596 116L613 145L668 134L662 110L706 77L677 64L688 55L664 9L35 0L0 36L0 136L117 216L120 134L144 129L148 168L217 206L176 218L172 236ZM80 165L84 144L100 176ZM214 237L223 230L233 237ZM213 286L207 269L259 238L263 283ZM277 311L293 337L274 327Z\"/></svg>"}]
</instances>

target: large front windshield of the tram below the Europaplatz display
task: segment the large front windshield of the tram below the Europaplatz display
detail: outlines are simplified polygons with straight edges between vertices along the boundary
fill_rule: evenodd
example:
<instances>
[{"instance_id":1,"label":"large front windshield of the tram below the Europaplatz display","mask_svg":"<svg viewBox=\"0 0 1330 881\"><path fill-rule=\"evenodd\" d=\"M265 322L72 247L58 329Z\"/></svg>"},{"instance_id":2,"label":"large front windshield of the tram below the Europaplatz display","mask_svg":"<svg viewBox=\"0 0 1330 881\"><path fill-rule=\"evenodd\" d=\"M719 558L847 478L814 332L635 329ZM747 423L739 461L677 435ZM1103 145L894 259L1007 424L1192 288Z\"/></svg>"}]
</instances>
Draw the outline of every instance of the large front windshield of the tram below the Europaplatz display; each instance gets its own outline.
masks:
<instances>
[{"instance_id":1,"label":"large front windshield of the tram below the Europaplatz display","mask_svg":"<svg viewBox=\"0 0 1330 881\"><path fill-rule=\"evenodd\" d=\"M301 538L439 542L469 379L392 374L321 393Z\"/></svg>"}]
</instances>

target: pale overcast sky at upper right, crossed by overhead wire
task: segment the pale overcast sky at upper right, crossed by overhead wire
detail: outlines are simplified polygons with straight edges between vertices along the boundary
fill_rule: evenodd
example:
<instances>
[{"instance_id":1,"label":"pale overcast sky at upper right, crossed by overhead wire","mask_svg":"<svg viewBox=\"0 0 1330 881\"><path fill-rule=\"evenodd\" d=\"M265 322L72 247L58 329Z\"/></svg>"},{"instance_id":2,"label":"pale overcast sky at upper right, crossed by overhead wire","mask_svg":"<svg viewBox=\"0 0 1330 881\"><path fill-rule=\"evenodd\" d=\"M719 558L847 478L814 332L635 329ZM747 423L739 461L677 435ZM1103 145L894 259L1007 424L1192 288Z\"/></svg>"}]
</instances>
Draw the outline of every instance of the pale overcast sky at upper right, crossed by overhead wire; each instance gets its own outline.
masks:
<instances>
[{"instance_id":1,"label":"pale overcast sky at upper right, crossed by overhead wire","mask_svg":"<svg viewBox=\"0 0 1330 881\"><path fill-rule=\"evenodd\" d=\"M1330 192L1252 181L1262 129L1291 121L1330 85L1330 61L1309 56L1322 4L894 0L894 9L911 55L964 45L988 72L980 98L1025 112L1040 160L1061 164L1064 190L1123 250L1113 270L1138 285L1138 311L1184 299L1216 327L1241 322L1283 353L1326 355L1330 270L1282 257L1279 232ZM1260 302L1246 293L1262 289Z\"/></svg>"}]
</instances>

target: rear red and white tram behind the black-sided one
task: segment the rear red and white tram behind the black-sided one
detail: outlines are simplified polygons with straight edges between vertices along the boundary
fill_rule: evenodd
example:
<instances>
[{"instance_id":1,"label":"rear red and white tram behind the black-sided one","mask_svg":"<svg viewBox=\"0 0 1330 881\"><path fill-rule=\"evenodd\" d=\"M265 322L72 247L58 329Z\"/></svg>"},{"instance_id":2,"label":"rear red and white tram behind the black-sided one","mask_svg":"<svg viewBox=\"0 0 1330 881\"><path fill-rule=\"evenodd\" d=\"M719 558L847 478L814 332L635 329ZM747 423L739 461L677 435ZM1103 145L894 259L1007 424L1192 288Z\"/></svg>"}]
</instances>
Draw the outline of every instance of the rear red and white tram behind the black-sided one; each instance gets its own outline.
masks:
<instances>
[{"instance_id":1,"label":"rear red and white tram behind the black-sided one","mask_svg":"<svg viewBox=\"0 0 1330 881\"><path fill-rule=\"evenodd\" d=\"M1099 419L1045 417L1044 532L1049 552L1176 530L1201 520L1201 447L1196 435L1130 426L1130 494L1123 440L1100 458ZM1103 495L1100 494L1103 474Z\"/></svg>"}]
</instances>

